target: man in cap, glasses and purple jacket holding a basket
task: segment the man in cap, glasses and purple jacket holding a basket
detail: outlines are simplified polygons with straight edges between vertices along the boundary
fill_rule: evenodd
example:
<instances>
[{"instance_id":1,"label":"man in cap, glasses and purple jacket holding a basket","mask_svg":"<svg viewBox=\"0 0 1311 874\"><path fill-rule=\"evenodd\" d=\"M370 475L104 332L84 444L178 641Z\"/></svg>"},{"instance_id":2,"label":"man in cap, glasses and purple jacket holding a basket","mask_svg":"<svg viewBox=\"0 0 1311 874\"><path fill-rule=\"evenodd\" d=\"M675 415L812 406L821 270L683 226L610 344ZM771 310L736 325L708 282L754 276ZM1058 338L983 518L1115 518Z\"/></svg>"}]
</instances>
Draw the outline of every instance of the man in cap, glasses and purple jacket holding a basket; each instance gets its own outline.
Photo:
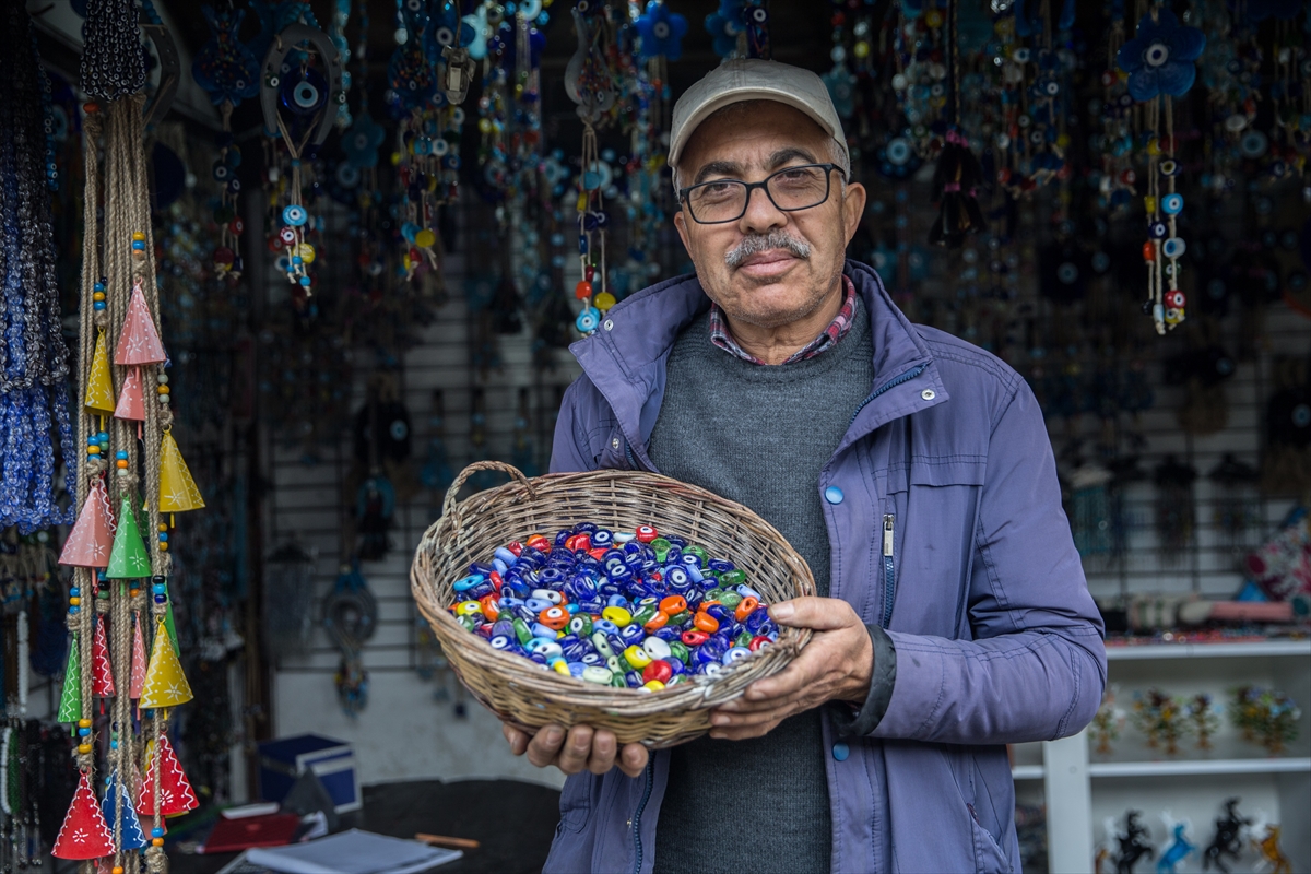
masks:
<instances>
[{"instance_id":1,"label":"man in cap, glasses and purple jacket holding a basket","mask_svg":"<svg viewBox=\"0 0 1311 874\"><path fill-rule=\"evenodd\" d=\"M552 469L751 507L819 592L771 616L815 634L674 750L507 727L570 774L545 870L1019 870L1004 744L1079 731L1105 683L1033 394L844 261L865 190L814 73L722 64L669 159L696 275L573 346Z\"/></svg>"}]
</instances>

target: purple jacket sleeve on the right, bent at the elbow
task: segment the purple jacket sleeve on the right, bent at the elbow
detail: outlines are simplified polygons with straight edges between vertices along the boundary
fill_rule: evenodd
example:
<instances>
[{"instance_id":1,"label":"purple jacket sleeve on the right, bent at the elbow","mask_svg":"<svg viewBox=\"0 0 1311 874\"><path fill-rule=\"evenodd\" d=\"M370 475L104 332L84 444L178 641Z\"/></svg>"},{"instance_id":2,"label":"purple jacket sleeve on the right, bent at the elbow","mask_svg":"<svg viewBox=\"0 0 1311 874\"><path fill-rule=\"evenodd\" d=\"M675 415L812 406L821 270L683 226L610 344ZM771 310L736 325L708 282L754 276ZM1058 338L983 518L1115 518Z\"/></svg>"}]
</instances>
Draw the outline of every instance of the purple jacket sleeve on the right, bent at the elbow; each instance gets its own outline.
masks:
<instances>
[{"instance_id":1,"label":"purple jacket sleeve on the right, bent at the elbow","mask_svg":"<svg viewBox=\"0 0 1311 874\"><path fill-rule=\"evenodd\" d=\"M968 580L973 639L889 632L897 674L871 732L937 743L1080 731L1106 681L1101 617L1061 508L1055 459L1020 383L990 439Z\"/></svg>"}]
</instances>

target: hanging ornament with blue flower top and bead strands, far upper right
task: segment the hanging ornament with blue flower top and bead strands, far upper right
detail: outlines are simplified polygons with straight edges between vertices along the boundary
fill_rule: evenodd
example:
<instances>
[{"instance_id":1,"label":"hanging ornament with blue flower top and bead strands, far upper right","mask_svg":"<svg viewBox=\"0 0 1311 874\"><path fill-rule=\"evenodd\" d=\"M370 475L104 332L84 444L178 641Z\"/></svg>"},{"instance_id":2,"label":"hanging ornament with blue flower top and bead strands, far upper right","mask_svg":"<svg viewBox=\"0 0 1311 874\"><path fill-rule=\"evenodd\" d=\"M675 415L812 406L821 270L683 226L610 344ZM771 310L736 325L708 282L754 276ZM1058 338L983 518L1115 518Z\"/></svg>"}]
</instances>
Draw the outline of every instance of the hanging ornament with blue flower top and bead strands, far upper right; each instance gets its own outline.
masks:
<instances>
[{"instance_id":1,"label":"hanging ornament with blue flower top and bead strands, far upper right","mask_svg":"<svg viewBox=\"0 0 1311 874\"><path fill-rule=\"evenodd\" d=\"M1147 300L1158 334L1181 324L1185 296L1179 288L1180 257L1184 240L1176 232L1184 197L1176 180L1179 162L1175 156L1175 97L1183 97L1197 77L1194 62L1206 47L1206 34L1181 25L1167 7L1154 7L1138 22L1137 35L1121 46L1120 68L1129 73L1129 96L1146 102L1147 140L1147 241L1143 262L1147 266ZM1164 181L1164 185L1162 185Z\"/></svg>"}]
</instances>

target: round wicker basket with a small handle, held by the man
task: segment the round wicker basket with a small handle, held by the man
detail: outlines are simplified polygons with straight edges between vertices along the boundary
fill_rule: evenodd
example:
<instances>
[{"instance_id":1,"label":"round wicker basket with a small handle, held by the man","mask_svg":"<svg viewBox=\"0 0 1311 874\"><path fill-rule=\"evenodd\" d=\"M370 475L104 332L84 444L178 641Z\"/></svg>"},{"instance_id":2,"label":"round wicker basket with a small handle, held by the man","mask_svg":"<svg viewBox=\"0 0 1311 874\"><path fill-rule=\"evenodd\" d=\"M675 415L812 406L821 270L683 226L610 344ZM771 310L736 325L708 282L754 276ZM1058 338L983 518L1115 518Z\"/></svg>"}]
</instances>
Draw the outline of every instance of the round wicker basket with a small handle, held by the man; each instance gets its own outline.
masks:
<instances>
[{"instance_id":1,"label":"round wicker basket with a small handle, held by the man","mask_svg":"<svg viewBox=\"0 0 1311 874\"><path fill-rule=\"evenodd\" d=\"M458 504L460 486L479 470L502 470L511 481ZM471 464L446 493L442 518L425 532L410 584L456 675L503 722L530 731L548 723L583 723L610 729L620 743L671 747L705 734L711 708L781 671L810 639L809 630L780 628L777 643L713 679L695 676L653 694L543 671L520 655L493 649L447 611L456 600L452 583L471 562L488 561L505 542L534 532L553 536L579 522L615 531L650 524L686 537L746 571L767 604L815 594L810 569L783 535L746 507L704 489L653 473L597 470L528 480L507 464Z\"/></svg>"}]
</instances>

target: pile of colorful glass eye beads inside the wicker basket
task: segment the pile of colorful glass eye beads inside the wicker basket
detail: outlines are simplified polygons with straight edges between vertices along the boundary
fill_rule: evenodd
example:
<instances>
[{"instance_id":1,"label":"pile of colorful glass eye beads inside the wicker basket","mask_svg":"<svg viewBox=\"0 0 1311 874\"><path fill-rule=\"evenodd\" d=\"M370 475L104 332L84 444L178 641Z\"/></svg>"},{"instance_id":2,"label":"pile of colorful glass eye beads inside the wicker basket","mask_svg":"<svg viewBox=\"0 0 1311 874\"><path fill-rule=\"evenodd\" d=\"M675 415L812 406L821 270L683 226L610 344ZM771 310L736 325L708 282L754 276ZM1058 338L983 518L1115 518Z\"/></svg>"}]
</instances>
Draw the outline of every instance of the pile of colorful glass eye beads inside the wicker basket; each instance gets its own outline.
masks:
<instances>
[{"instance_id":1,"label":"pile of colorful glass eye beads inside the wicker basket","mask_svg":"<svg viewBox=\"0 0 1311 874\"><path fill-rule=\"evenodd\" d=\"M713 676L779 637L745 571L650 525L532 535L469 565L454 590L450 611L493 647L620 689Z\"/></svg>"}]
</instances>

